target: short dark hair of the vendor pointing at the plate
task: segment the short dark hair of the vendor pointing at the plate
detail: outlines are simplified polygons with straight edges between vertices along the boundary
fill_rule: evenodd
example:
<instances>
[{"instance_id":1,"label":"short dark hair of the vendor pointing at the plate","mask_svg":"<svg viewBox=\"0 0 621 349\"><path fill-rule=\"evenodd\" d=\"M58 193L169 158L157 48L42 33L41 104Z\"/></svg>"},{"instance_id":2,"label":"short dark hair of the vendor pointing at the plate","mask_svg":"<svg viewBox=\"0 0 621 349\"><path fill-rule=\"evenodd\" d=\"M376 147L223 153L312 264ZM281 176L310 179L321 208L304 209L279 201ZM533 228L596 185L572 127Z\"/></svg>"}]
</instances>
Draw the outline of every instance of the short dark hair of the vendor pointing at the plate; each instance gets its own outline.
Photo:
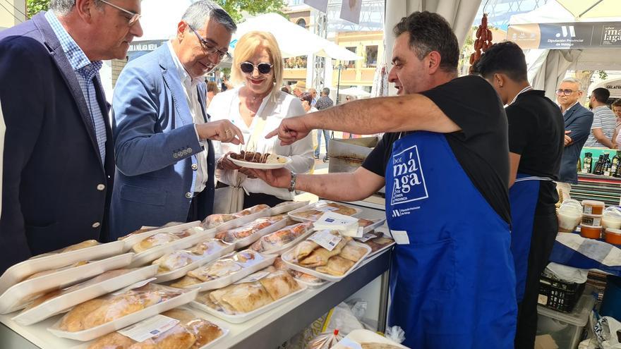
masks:
<instances>
[{"instance_id":1,"label":"short dark hair of the vendor pointing at the plate","mask_svg":"<svg viewBox=\"0 0 621 349\"><path fill-rule=\"evenodd\" d=\"M459 44L450 24L438 13L429 11L414 12L401 19L392 30L394 36L399 37L404 32L410 35L410 49L416 53L418 59L423 59L431 51L438 51L440 68L457 73L459 63Z\"/></svg>"}]
</instances>

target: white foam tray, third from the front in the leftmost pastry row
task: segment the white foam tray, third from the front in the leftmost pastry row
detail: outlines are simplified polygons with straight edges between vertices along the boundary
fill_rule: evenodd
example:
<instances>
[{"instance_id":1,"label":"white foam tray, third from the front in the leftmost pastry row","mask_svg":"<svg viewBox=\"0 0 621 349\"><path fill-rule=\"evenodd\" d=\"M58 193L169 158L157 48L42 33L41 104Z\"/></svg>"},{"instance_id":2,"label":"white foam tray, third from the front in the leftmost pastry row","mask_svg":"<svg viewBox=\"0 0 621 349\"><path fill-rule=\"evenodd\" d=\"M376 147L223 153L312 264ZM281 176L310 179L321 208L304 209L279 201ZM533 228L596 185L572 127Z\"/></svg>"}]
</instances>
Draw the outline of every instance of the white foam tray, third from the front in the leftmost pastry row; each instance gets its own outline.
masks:
<instances>
[{"instance_id":1,"label":"white foam tray, third from the front in the leftmost pastry row","mask_svg":"<svg viewBox=\"0 0 621 349\"><path fill-rule=\"evenodd\" d=\"M13 321L23 326L35 324L55 314L69 310L69 308L74 305L111 293L125 286L130 286L138 281L146 280L154 276L156 272L157 266L151 265L114 278L109 278L100 283L95 283L88 287L80 288L79 290L46 300L32 309L20 312L16 317L13 317Z\"/></svg>"}]
</instances>

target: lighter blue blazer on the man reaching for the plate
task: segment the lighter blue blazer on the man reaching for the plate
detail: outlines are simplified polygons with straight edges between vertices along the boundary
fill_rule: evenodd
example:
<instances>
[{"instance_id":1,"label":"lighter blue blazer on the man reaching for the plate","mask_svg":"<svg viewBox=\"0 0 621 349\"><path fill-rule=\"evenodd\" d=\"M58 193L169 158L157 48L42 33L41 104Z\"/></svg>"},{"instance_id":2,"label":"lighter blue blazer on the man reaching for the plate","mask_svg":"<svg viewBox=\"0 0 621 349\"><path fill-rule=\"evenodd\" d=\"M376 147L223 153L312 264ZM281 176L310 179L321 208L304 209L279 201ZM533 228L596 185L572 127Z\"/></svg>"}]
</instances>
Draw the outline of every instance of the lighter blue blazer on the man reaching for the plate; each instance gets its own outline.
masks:
<instances>
[{"instance_id":1,"label":"lighter blue blazer on the man reaching for the plate","mask_svg":"<svg viewBox=\"0 0 621 349\"><path fill-rule=\"evenodd\" d=\"M203 118L205 83L198 85ZM186 221L196 179L198 142L186 94L166 44L130 61L114 88L116 187L112 194L111 235L140 226ZM214 151L208 142L207 188L197 200L212 213ZM193 166L194 165L194 166Z\"/></svg>"}]
</instances>

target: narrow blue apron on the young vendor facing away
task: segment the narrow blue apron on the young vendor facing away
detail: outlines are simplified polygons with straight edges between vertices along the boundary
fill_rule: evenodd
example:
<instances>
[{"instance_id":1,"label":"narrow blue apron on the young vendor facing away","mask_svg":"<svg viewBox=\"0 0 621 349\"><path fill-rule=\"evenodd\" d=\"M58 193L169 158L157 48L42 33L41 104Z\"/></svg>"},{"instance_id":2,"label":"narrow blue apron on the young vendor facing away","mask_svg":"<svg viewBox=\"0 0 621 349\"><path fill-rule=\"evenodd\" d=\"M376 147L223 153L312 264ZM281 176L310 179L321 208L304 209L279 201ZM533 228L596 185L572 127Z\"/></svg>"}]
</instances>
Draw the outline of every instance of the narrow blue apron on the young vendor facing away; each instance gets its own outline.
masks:
<instances>
[{"instance_id":1,"label":"narrow blue apron on the young vendor facing away","mask_svg":"<svg viewBox=\"0 0 621 349\"><path fill-rule=\"evenodd\" d=\"M539 184L541 180L551 179L518 173L515 183L509 190L512 225L511 253L515 264L516 298L518 303L524 298L531 238L533 236L533 221L539 200Z\"/></svg>"}]
</instances>

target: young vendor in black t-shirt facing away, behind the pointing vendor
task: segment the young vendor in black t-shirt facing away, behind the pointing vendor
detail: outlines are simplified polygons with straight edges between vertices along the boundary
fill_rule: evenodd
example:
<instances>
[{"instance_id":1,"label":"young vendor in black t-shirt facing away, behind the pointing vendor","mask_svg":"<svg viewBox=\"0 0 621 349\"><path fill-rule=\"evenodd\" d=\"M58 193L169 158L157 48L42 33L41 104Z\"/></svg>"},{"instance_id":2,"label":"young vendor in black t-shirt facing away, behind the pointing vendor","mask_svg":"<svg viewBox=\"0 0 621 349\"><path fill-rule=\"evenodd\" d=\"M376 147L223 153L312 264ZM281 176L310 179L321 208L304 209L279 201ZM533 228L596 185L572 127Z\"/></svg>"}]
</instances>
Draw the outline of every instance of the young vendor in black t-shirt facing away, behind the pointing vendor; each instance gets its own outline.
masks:
<instances>
[{"instance_id":1,"label":"young vendor in black t-shirt facing away, behind the pointing vendor","mask_svg":"<svg viewBox=\"0 0 621 349\"><path fill-rule=\"evenodd\" d=\"M558 231L556 185L565 124L558 106L533 90L526 59L513 42L494 44L476 71L493 85L509 121L511 251L517 276L515 348L532 349L537 331L539 276L548 264Z\"/></svg>"}]
</instances>

